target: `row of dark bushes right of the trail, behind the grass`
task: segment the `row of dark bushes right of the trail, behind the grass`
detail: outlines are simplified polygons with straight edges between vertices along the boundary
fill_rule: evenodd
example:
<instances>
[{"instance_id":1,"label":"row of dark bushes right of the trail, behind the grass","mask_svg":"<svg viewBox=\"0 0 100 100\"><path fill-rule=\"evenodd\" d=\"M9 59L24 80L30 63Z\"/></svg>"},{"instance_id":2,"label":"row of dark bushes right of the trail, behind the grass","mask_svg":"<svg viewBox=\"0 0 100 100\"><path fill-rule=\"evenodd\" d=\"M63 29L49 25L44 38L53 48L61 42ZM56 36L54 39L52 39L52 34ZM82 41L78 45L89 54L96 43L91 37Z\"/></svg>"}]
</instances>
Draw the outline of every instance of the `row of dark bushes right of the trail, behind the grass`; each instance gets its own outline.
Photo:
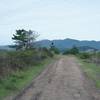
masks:
<instances>
[{"instance_id":1,"label":"row of dark bushes right of the trail, behind the grass","mask_svg":"<svg viewBox=\"0 0 100 100\"><path fill-rule=\"evenodd\" d=\"M90 52L81 52L77 47L72 47L67 49L63 55L75 55L81 59L84 59L86 62L95 63L96 65L100 64L100 52L90 51Z\"/></svg>"}]
</instances>

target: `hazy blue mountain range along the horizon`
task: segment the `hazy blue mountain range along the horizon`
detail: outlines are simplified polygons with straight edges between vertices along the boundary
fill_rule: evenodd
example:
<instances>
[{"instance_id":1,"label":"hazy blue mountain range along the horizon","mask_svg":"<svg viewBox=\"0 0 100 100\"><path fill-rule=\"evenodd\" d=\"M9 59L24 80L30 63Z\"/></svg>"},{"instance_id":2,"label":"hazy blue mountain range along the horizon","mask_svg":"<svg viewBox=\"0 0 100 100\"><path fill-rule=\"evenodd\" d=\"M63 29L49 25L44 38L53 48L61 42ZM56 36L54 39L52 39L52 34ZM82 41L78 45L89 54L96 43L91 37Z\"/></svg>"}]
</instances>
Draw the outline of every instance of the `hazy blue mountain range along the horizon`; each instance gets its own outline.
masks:
<instances>
[{"instance_id":1,"label":"hazy blue mountain range along the horizon","mask_svg":"<svg viewBox=\"0 0 100 100\"><path fill-rule=\"evenodd\" d=\"M51 43L54 43L55 47L60 49L61 51L64 51L66 49L72 48L73 46L77 46L80 50L86 51L86 50L100 50L100 41L80 41L75 39L64 39L64 40L41 40L37 41L37 46L40 47L47 47L49 48ZM9 46L0 46L1 50L11 50Z\"/></svg>"}]
</instances>

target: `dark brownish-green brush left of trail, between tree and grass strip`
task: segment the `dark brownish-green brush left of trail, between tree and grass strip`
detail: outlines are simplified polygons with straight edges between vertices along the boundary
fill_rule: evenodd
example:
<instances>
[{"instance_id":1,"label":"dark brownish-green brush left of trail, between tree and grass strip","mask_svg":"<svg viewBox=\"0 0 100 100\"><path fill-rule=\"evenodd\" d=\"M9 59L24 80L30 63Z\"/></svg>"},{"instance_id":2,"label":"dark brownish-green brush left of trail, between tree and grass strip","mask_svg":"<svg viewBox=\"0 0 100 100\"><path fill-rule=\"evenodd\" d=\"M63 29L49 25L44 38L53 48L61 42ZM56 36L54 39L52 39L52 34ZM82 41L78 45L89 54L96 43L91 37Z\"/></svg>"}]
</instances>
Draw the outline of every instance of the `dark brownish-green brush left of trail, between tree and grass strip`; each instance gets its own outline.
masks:
<instances>
[{"instance_id":1,"label":"dark brownish-green brush left of trail, between tree and grass strip","mask_svg":"<svg viewBox=\"0 0 100 100\"><path fill-rule=\"evenodd\" d=\"M24 51L4 51L0 53L0 79L10 73L23 70L30 66L41 63L44 59L53 57L48 49L24 50Z\"/></svg>"}]
</instances>

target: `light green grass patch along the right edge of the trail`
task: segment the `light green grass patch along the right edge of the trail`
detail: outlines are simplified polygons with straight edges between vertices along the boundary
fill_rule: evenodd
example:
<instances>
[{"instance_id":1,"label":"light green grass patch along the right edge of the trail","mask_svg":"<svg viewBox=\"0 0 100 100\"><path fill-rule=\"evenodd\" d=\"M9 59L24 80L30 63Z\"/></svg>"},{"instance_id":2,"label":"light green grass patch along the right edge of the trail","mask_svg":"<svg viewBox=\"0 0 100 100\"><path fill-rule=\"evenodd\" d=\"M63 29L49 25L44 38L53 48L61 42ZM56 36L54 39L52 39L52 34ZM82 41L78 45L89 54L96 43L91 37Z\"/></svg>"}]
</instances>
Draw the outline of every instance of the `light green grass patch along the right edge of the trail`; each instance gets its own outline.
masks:
<instances>
[{"instance_id":1,"label":"light green grass patch along the right edge of the trail","mask_svg":"<svg viewBox=\"0 0 100 100\"><path fill-rule=\"evenodd\" d=\"M100 65L97 66L95 63L84 62L82 59L80 62L82 63L81 67L88 78L92 79L95 82L96 87L100 89Z\"/></svg>"}]
</instances>

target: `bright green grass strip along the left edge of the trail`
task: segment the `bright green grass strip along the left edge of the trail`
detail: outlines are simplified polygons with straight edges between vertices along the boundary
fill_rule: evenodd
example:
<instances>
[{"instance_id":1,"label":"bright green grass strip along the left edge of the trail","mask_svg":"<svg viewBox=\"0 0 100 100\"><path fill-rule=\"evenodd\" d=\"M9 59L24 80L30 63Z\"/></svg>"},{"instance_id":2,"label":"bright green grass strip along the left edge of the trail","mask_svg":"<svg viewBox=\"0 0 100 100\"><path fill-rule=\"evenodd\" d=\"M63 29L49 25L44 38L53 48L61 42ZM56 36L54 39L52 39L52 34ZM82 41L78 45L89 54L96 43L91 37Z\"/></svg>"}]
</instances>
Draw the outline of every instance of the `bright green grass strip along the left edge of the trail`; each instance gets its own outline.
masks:
<instances>
[{"instance_id":1,"label":"bright green grass strip along the left edge of the trail","mask_svg":"<svg viewBox=\"0 0 100 100\"><path fill-rule=\"evenodd\" d=\"M16 93L22 90L52 61L52 59L46 59L35 65L35 67L31 66L24 70L17 70L8 77L2 78L0 80L0 100L10 95L10 93Z\"/></svg>"}]
</instances>

